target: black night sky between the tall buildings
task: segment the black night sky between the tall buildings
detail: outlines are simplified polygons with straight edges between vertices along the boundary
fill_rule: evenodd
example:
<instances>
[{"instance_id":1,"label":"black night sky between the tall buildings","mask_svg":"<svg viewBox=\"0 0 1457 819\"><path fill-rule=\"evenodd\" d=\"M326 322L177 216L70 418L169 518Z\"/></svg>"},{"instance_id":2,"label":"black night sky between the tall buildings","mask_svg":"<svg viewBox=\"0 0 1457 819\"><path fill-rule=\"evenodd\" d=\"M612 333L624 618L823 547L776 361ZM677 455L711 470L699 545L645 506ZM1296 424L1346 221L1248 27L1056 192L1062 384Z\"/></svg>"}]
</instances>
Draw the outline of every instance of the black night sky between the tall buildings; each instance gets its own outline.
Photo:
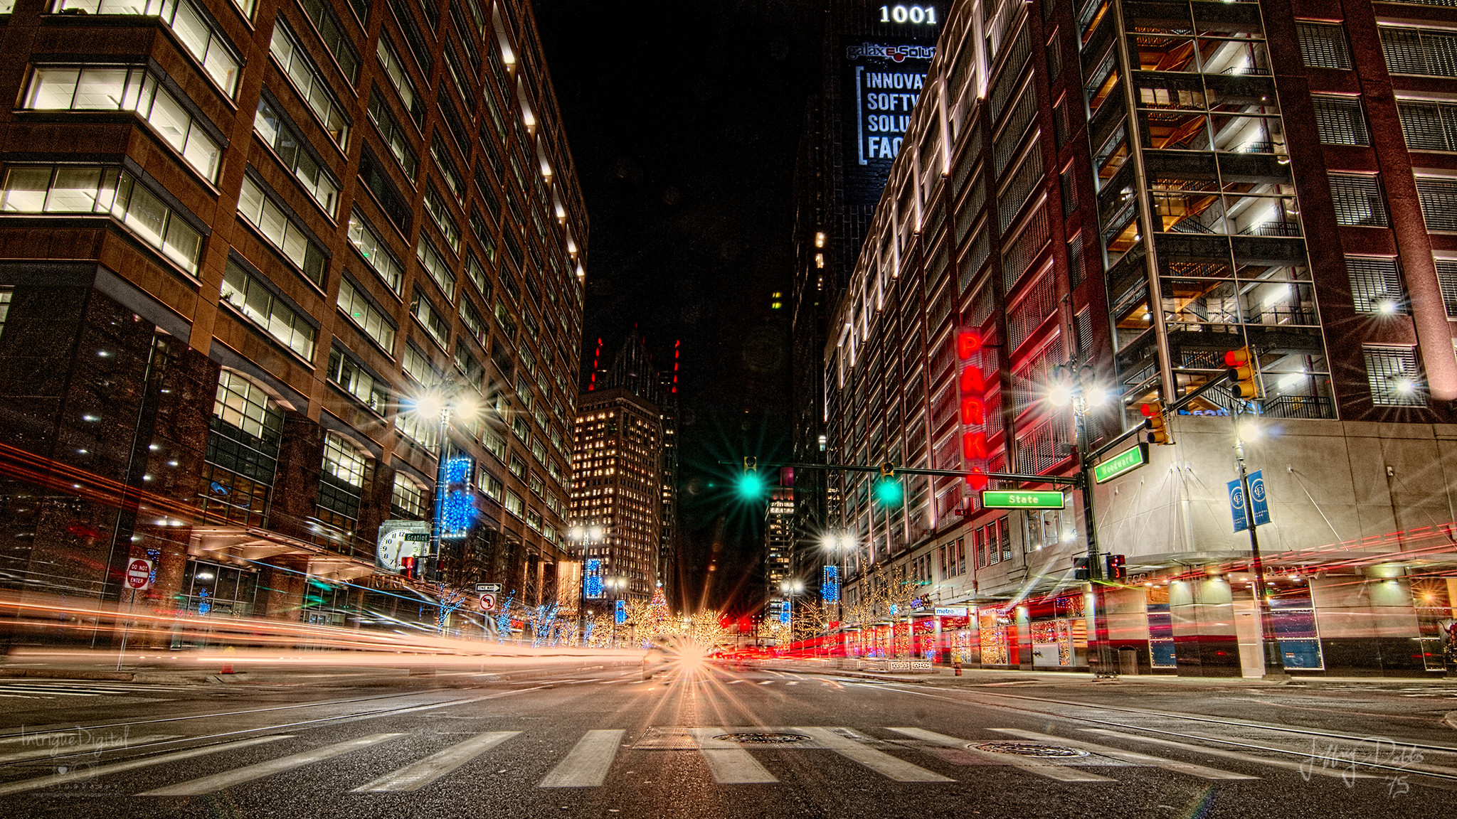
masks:
<instances>
[{"instance_id":1,"label":"black night sky between the tall buildings","mask_svg":"<svg viewBox=\"0 0 1457 819\"><path fill-rule=\"evenodd\" d=\"M682 340L682 602L747 611L763 510L718 461L788 456L790 192L823 10L536 0L536 17L592 223L583 372L597 338L610 357L637 328L659 366Z\"/></svg>"}]
</instances>

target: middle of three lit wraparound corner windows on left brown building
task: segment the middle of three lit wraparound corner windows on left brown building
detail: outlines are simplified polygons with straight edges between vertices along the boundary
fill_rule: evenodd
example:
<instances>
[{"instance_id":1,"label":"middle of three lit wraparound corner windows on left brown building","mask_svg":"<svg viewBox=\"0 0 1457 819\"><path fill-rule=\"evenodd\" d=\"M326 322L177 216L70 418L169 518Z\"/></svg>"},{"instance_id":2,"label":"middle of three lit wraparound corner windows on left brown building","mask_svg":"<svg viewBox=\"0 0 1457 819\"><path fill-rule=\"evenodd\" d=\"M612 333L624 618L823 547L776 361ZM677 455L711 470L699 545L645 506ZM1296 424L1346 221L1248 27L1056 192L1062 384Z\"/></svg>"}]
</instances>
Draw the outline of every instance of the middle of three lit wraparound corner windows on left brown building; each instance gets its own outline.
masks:
<instances>
[{"instance_id":1,"label":"middle of three lit wraparound corner windows on left brown building","mask_svg":"<svg viewBox=\"0 0 1457 819\"><path fill-rule=\"evenodd\" d=\"M208 182L217 181L221 146L197 117L146 68L41 66L23 108L34 111L136 111Z\"/></svg>"}]
</instances>

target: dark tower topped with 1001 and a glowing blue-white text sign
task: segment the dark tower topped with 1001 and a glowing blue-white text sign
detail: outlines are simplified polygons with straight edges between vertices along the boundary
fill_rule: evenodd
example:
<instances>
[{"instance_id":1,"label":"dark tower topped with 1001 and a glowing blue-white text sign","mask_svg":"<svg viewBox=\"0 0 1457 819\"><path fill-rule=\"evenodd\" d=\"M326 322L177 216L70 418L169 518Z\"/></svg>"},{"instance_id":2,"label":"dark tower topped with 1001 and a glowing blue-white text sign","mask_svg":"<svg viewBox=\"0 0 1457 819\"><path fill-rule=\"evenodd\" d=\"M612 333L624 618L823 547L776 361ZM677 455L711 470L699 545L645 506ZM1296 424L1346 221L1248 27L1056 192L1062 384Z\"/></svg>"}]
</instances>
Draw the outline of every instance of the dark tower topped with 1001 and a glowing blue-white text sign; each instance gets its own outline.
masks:
<instances>
[{"instance_id":1,"label":"dark tower topped with 1001 and a glowing blue-white text sign","mask_svg":"<svg viewBox=\"0 0 1457 819\"><path fill-rule=\"evenodd\" d=\"M806 106L794 163L791 428L798 463L825 462L825 361L830 313L900 152L941 31L935 6L832 0L823 16L820 90ZM825 472L796 474L793 571L820 574L836 514Z\"/></svg>"}]
</instances>

